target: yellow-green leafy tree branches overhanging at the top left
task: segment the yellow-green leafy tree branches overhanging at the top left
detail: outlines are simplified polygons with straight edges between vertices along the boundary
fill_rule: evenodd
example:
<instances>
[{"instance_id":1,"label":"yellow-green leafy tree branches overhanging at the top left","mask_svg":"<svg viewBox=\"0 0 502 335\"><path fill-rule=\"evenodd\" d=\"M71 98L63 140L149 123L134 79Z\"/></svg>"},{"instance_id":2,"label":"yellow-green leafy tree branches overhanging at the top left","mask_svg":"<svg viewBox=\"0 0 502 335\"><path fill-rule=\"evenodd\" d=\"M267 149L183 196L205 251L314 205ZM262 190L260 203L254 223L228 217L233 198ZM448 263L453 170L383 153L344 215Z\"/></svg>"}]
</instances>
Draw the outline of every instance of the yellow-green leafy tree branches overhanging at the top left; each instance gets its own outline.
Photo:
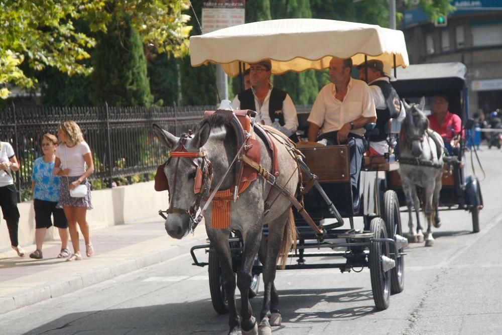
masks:
<instances>
[{"instance_id":1,"label":"yellow-green leafy tree branches overhanging at the top left","mask_svg":"<svg viewBox=\"0 0 502 335\"><path fill-rule=\"evenodd\" d=\"M27 75L26 63L37 71L54 67L69 76L87 75L96 41L78 32L83 20L92 32L106 32L112 18L130 18L145 44L175 56L187 53L189 17L181 12L189 0L0 0L0 98L10 94L9 85L32 87L37 80ZM115 15L114 14L119 14ZM120 21L120 20L118 20Z\"/></svg>"}]
</instances>

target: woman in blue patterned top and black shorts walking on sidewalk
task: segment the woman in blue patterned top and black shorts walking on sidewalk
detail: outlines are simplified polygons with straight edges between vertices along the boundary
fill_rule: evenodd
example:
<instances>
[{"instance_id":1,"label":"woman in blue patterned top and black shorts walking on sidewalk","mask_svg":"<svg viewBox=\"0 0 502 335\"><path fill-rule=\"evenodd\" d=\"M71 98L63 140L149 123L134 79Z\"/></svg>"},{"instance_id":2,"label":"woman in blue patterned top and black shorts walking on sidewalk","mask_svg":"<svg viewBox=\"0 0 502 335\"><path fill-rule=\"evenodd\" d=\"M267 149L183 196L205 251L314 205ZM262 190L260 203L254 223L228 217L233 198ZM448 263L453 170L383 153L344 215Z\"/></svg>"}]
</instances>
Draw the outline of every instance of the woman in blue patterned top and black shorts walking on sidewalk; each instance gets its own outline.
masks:
<instances>
[{"instance_id":1,"label":"woman in blue patterned top and black shorts walking on sidewalk","mask_svg":"<svg viewBox=\"0 0 502 335\"><path fill-rule=\"evenodd\" d=\"M54 160L58 139L52 134L42 136L43 156L33 163L32 194L33 207L35 209L35 243L37 249L30 254L31 258L42 259L42 245L47 230L52 226L51 215L54 217L54 227L58 228L61 239L61 252L58 258L70 256L68 250L68 220L63 209L56 208L59 202L59 176L54 176Z\"/></svg>"}]
</instances>

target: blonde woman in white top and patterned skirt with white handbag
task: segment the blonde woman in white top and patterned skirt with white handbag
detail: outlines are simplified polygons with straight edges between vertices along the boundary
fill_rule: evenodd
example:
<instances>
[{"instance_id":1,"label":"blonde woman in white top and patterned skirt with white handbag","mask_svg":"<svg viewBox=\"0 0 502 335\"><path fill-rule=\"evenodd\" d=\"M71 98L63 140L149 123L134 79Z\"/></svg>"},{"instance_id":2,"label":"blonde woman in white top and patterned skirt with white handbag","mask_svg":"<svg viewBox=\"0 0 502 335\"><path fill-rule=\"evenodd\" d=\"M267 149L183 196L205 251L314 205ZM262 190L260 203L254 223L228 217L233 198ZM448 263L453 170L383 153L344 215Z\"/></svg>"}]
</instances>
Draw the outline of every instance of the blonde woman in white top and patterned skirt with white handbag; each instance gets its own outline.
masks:
<instances>
[{"instance_id":1,"label":"blonde woman in white top and patterned skirt with white handbag","mask_svg":"<svg viewBox=\"0 0 502 335\"><path fill-rule=\"evenodd\" d=\"M59 203L57 207L63 208L70 239L73 245L73 254L67 261L80 261L80 244L78 241L77 224L84 236L85 253L87 257L94 254L89 235L89 224L86 220L87 209L92 209L90 183L87 178L94 172L94 163L89 146L84 141L82 131L75 121L63 121L58 126L60 145L56 149L53 174L63 176L60 183ZM72 197L70 190L83 184L87 193L83 197Z\"/></svg>"}]
</instances>

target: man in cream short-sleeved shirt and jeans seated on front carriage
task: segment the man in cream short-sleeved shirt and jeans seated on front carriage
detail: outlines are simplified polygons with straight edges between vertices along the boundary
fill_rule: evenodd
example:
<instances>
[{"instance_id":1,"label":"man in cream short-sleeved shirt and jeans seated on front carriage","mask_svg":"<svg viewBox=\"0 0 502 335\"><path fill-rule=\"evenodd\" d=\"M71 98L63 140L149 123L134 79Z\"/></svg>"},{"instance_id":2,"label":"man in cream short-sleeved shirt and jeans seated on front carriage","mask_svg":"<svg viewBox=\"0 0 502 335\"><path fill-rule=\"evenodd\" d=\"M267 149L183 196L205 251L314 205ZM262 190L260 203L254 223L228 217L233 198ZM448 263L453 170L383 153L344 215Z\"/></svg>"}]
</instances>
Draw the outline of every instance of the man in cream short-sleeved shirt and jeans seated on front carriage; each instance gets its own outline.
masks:
<instances>
[{"instance_id":1,"label":"man in cream short-sleeved shirt and jeans seated on front carriage","mask_svg":"<svg viewBox=\"0 0 502 335\"><path fill-rule=\"evenodd\" d=\"M328 145L349 145L350 179L354 207L357 207L357 183L364 152L363 127L376 121L376 110L368 85L362 80L353 79L351 72L351 58L331 59L331 83L325 85L317 95L307 121L310 122L309 141L326 139Z\"/></svg>"}]
</instances>

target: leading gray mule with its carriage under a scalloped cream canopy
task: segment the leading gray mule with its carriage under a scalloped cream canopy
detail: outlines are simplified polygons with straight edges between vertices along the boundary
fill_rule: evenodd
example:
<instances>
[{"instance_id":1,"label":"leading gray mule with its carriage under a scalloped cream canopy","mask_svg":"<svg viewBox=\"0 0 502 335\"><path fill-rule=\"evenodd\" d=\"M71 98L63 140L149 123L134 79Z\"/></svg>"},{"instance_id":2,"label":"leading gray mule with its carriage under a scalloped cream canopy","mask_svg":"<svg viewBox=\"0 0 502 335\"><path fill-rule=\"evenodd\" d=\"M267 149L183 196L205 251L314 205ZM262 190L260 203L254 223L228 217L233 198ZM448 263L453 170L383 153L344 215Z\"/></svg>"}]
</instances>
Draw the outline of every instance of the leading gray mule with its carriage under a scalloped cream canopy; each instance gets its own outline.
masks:
<instances>
[{"instance_id":1,"label":"leading gray mule with its carriage under a scalloped cream canopy","mask_svg":"<svg viewBox=\"0 0 502 335\"><path fill-rule=\"evenodd\" d=\"M192 37L190 48L192 65L221 64L232 76L241 73L245 63L264 59L271 61L273 74L325 69L331 56L351 57L356 64L376 58L394 67L408 65L402 32L330 20L246 24ZM391 292L404 288L403 248L407 245L396 193L390 190L379 195L378 172L396 169L392 157L386 156L382 164L369 162L353 194L348 146L311 143L297 150L273 129L255 124L253 111L221 108L207 114L193 136L181 139L154 126L156 135L171 149L171 158L159 170L167 176L164 189L170 189L170 206L160 212L168 213L166 230L175 238L193 230L204 216L209 244L193 247L191 254L194 265L209 266L213 307L218 313L230 313L229 333L236 333L239 325L242 333L256 333L258 324L260 333L270 333L270 325L280 324L273 283L279 257L285 269L339 268L344 272L368 267L376 308L386 309ZM268 146L267 142L273 143ZM258 162L243 154L252 148L261 149ZM239 180L246 175L239 173L239 164L252 167L258 179ZM195 195L186 192L192 188ZM220 193L220 189L225 191ZM216 194L221 197L211 207ZM197 216L199 206L203 207ZM224 206L226 211L221 211ZM359 229L354 217L362 217ZM343 228L344 218L349 228ZM291 242L296 245L292 252ZM309 252L318 248L325 251ZM209 253L208 262L197 259L200 249ZM342 261L306 262L307 257L320 256ZM295 264L286 264L288 257ZM265 292L257 322L248 298L256 295L261 273ZM236 285L241 293L240 317L235 307Z\"/></svg>"}]
</instances>

